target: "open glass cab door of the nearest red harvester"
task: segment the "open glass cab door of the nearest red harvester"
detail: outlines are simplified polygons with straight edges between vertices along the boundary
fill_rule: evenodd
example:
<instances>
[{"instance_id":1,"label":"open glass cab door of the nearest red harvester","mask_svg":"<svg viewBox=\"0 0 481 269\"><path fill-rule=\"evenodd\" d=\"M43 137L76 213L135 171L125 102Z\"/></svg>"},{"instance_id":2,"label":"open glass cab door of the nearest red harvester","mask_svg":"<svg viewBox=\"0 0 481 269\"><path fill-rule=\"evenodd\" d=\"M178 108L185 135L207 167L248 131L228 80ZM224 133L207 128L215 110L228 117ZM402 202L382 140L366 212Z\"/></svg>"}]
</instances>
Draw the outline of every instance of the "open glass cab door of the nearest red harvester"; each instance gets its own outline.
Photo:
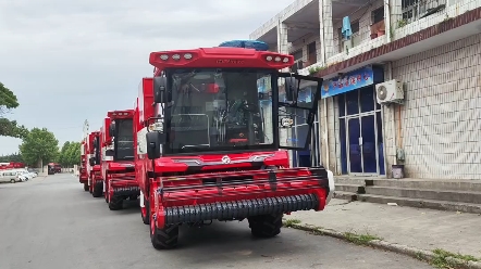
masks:
<instances>
[{"instance_id":1,"label":"open glass cab door of the nearest red harvester","mask_svg":"<svg viewBox=\"0 0 481 269\"><path fill-rule=\"evenodd\" d=\"M322 78L312 76L279 74L279 149L303 151L309 148L322 81ZM296 132L293 127L303 124L307 128Z\"/></svg>"}]
</instances>

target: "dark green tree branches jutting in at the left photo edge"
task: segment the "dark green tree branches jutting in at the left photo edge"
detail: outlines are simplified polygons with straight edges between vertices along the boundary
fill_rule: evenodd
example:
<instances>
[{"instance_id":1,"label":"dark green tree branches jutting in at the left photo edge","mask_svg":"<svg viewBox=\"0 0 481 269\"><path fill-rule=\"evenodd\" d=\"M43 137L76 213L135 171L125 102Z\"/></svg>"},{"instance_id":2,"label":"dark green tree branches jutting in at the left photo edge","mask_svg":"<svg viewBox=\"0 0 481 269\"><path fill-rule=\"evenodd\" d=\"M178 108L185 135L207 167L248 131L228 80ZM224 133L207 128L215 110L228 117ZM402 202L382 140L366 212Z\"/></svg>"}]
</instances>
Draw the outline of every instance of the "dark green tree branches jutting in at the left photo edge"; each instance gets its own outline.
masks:
<instances>
[{"instance_id":1,"label":"dark green tree branches jutting in at the left photo edge","mask_svg":"<svg viewBox=\"0 0 481 269\"><path fill-rule=\"evenodd\" d=\"M16 95L0 82L0 137L25 138L27 128L20 126L15 120L4 118L4 114L18 107Z\"/></svg>"}]
</instances>

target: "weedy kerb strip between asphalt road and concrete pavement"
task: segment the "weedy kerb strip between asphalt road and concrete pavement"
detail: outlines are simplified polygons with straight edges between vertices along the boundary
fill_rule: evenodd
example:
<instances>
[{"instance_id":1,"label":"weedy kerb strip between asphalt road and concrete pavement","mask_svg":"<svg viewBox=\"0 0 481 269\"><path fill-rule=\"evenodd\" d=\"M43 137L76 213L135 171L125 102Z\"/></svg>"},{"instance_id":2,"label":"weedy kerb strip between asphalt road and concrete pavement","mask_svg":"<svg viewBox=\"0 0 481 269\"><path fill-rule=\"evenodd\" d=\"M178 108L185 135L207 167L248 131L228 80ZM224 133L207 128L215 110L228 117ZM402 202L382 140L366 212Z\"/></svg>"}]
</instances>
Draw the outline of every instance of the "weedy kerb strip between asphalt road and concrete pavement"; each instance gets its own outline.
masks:
<instances>
[{"instance_id":1,"label":"weedy kerb strip between asphalt road and concrete pavement","mask_svg":"<svg viewBox=\"0 0 481 269\"><path fill-rule=\"evenodd\" d=\"M338 231L335 231L332 229L325 229L325 228L319 228L316 226L299 225L299 223L288 223L288 226L286 226L285 221L283 221L283 226L288 227L288 228L294 228L297 230L312 232L317 235L326 235L326 236L336 238L340 240L350 242L345 233L338 232ZM407 246L407 245L390 243L390 242L386 242L383 240L372 240L372 241L367 242L363 245L368 245L368 246L383 249L383 251L403 254L403 255L406 255L406 256L409 256L409 257L412 257L412 258L416 258L419 260L424 260L427 262L430 262L433 259L437 258L437 256L433 252L424 251L424 249L420 249L420 248L416 248L416 247L411 247L411 246ZM449 261L451 264L456 265L457 266L456 268L459 268L459 269L481 269L480 261L466 261L466 260L461 260L461 259L454 258L454 257L446 257L446 260Z\"/></svg>"}]
</instances>

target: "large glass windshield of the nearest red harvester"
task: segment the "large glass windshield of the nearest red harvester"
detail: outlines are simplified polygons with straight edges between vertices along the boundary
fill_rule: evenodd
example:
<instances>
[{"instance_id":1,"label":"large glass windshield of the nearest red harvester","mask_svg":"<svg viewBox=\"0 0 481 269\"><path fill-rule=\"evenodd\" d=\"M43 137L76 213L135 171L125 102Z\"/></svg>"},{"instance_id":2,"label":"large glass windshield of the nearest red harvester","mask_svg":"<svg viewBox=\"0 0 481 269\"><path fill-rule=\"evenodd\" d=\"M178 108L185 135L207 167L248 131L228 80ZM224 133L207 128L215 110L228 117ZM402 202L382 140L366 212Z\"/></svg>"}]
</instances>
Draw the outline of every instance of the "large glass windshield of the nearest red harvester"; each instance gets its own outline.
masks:
<instances>
[{"instance_id":1,"label":"large glass windshield of the nearest red harvester","mask_svg":"<svg viewBox=\"0 0 481 269\"><path fill-rule=\"evenodd\" d=\"M266 69L169 72L166 153L271 149L271 77Z\"/></svg>"}]
</instances>

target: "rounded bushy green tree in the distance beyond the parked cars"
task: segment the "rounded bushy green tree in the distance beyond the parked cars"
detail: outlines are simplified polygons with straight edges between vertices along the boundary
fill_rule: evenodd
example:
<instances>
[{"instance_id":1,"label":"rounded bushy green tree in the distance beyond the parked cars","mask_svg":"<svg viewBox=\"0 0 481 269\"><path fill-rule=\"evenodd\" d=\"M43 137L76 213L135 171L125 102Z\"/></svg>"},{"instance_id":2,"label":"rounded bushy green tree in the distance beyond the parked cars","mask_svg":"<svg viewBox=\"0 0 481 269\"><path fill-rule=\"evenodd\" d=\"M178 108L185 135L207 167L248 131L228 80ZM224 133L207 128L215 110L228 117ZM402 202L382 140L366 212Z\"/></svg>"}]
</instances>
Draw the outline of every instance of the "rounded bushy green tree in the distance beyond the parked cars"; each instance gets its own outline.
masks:
<instances>
[{"instance_id":1,"label":"rounded bushy green tree in the distance beyond the parked cars","mask_svg":"<svg viewBox=\"0 0 481 269\"><path fill-rule=\"evenodd\" d=\"M33 128L18 149L26 164L41 167L59 154L59 140L47 128Z\"/></svg>"}]
</instances>

